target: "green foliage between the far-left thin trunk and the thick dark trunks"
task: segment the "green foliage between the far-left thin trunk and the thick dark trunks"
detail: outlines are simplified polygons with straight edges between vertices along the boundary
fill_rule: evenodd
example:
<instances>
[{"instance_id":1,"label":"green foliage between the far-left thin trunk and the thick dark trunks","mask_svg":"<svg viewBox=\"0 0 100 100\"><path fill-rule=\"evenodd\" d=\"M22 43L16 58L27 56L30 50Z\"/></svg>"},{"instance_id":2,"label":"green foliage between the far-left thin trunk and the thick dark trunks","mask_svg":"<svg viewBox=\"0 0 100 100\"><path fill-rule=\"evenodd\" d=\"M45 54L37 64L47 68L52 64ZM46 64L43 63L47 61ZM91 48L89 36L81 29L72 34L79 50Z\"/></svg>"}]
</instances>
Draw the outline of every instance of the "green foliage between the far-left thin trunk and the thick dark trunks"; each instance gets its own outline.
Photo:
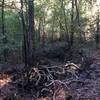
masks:
<instances>
[{"instance_id":1,"label":"green foliage between the far-left thin trunk and the thick dark trunks","mask_svg":"<svg viewBox=\"0 0 100 100\"><path fill-rule=\"evenodd\" d=\"M21 47L23 39L18 13L14 13L11 10L6 10L4 24L5 35L0 33L0 53L2 53L5 49L13 50ZM6 38L7 43L3 43L2 40L4 38Z\"/></svg>"}]
</instances>

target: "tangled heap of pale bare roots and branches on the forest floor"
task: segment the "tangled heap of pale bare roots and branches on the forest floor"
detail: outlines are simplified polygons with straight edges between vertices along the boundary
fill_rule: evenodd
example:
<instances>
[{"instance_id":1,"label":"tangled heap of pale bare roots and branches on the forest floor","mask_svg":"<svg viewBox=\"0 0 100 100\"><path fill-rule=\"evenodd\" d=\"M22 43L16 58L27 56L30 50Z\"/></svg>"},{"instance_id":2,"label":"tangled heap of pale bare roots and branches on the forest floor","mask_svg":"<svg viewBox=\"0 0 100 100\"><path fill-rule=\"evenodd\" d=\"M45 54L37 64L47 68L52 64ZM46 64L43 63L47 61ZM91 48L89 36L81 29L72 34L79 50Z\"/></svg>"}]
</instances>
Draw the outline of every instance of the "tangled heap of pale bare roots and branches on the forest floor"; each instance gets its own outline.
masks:
<instances>
[{"instance_id":1,"label":"tangled heap of pale bare roots and branches on the forest floor","mask_svg":"<svg viewBox=\"0 0 100 100\"><path fill-rule=\"evenodd\" d=\"M86 70L89 69L86 68L85 72L85 66L82 67L72 62L67 62L65 66L64 64L37 65L37 67L30 69L28 76L26 71L16 69L11 71L14 72L11 77L12 84L17 88L19 94L32 94L35 99L51 97L59 100L60 95L63 95L63 98L70 100L70 98L75 97L71 87L72 89L78 89L84 86L84 82L78 80L80 78L79 74L81 74L79 72L81 70L87 73Z\"/></svg>"}]
</instances>

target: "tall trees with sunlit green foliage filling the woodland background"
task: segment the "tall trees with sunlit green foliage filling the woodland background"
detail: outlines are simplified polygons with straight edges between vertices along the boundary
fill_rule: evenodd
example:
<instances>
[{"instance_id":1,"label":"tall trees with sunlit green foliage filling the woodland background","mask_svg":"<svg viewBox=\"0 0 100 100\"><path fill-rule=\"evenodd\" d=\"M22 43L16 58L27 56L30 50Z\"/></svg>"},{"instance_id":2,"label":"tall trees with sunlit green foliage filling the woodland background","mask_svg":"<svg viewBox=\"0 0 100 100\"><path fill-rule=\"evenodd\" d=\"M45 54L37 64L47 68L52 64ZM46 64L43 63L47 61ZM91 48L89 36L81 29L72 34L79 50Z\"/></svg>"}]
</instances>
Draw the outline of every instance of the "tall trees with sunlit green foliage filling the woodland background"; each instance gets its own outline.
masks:
<instances>
[{"instance_id":1,"label":"tall trees with sunlit green foliage filling the woodland background","mask_svg":"<svg viewBox=\"0 0 100 100\"><path fill-rule=\"evenodd\" d=\"M50 42L96 40L99 36L99 2L96 0L0 0L0 52L7 61L8 51L24 50L29 66L33 52ZM96 34L95 34L96 33ZM90 38L92 39L90 40Z\"/></svg>"}]
</instances>

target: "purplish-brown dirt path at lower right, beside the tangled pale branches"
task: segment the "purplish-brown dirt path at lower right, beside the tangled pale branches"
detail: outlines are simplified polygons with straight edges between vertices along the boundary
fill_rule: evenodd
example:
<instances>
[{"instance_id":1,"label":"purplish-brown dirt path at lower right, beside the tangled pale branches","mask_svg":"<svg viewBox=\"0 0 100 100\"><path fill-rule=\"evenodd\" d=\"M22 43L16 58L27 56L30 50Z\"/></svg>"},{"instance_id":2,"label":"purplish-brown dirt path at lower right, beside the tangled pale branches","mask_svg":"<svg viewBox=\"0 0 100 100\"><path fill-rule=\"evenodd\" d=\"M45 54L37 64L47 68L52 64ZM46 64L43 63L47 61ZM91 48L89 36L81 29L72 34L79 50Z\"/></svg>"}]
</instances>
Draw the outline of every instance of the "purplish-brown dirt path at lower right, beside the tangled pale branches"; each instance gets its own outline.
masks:
<instances>
[{"instance_id":1,"label":"purplish-brown dirt path at lower right, beside the tangled pale branches","mask_svg":"<svg viewBox=\"0 0 100 100\"><path fill-rule=\"evenodd\" d=\"M79 78L84 81L83 86L75 82L71 85L76 93L75 100L100 100L100 51L93 51L92 54L94 63L88 70L88 76L83 73L83 78Z\"/></svg>"}]
</instances>

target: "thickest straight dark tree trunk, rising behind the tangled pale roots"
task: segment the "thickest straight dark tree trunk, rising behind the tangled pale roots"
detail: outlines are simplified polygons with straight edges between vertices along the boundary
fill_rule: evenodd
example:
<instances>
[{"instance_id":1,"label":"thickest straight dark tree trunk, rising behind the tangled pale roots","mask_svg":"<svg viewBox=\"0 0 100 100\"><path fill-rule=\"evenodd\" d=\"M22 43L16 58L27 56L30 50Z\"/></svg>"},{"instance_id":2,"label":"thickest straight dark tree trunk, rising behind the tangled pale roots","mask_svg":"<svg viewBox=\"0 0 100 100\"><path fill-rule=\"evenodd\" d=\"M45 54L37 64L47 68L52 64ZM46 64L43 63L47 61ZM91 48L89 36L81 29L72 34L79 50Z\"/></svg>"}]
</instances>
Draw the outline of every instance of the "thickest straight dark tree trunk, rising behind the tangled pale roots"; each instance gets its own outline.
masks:
<instances>
[{"instance_id":1,"label":"thickest straight dark tree trunk, rising behind the tangled pale roots","mask_svg":"<svg viewBox=\"0 0 100 100\"><path fill-rule=\"evenodd\" d=\"M28 65L33 66L34 40L34 0L28 0ZM34 45L33 45L34 44Z\"/></svg>"}]
</instances>

